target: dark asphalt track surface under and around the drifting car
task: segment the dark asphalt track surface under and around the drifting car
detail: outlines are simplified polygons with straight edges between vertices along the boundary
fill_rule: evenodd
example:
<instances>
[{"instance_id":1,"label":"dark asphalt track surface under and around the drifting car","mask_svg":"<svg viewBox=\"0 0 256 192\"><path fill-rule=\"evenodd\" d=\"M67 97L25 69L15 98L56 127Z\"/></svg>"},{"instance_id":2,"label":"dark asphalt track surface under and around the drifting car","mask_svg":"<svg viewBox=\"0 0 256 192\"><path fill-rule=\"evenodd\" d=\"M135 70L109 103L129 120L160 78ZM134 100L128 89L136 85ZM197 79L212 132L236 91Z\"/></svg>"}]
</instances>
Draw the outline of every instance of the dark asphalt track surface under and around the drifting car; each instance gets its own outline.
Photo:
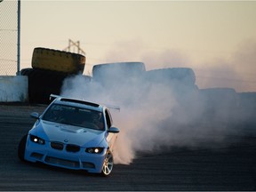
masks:
<instances>
[{"instance_id":1,"label":"dark asphalt track surface under and around the drifting car","mask_svg":"<svg viewBox=\"0 0 256 192\"><path fill-rule=\"evenodd\" d=\"M17 146L34 124L29 114L44 108L0 105L0 190L256 190L256 131L245 128L240 135L230 136L229 145L213 149L169 148L156 154L138 153L130 165L116 164L107 178L21 163Z\"/></svg>"}]
</instances>

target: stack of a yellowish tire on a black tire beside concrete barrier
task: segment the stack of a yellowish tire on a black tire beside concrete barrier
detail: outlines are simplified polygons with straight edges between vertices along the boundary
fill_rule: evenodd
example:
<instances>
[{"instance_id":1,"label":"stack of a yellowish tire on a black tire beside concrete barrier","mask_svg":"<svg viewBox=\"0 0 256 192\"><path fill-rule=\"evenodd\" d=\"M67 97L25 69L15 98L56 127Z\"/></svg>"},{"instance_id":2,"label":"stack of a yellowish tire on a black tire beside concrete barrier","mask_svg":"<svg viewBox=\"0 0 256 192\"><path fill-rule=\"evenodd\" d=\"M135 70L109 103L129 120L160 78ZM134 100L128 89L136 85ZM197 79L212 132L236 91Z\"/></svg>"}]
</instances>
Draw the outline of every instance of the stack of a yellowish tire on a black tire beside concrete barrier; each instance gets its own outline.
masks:
<instances>
[{"instance_id":1,"label":"stack of a yellowish tire on a black tire beside concrete barrier","mask_svg":"<svg viewBox=\"0 0 256 192\"><path fill-rule=\"evenodd\" d=\"M68 76L83 74L84 55L36 47L32 68L23 68L21 76L28 76L30 103L49 103L50 94L60 94L63 81Z\"/></svg>"}]
</instances>

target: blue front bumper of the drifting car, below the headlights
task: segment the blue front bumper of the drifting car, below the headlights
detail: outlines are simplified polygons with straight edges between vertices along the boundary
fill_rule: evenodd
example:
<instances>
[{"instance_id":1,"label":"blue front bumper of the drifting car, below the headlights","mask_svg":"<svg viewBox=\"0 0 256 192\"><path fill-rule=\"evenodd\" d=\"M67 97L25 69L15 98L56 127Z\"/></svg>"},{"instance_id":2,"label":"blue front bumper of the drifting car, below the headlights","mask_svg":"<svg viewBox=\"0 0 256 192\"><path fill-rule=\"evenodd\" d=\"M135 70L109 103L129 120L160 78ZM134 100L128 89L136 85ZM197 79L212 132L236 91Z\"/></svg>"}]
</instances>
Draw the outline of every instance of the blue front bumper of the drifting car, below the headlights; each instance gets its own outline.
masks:
<instances>
[{"instance_id":1,"label":"blue front bumper of the drifting car, below the headlights","mask_svg":"<svg viewBox=\"0 0 256 192\"><path fill-rule=\"evenodd\" d=\"M45 141L44 145L28 140L25 149L25 160L29 162L41 162L73 170L86 170L88 172L101 172L107 148L100 154L90 154L85 152L85 148L80 148L77 152L51 147L51 142Z\"/></svg>"}]
</instances>

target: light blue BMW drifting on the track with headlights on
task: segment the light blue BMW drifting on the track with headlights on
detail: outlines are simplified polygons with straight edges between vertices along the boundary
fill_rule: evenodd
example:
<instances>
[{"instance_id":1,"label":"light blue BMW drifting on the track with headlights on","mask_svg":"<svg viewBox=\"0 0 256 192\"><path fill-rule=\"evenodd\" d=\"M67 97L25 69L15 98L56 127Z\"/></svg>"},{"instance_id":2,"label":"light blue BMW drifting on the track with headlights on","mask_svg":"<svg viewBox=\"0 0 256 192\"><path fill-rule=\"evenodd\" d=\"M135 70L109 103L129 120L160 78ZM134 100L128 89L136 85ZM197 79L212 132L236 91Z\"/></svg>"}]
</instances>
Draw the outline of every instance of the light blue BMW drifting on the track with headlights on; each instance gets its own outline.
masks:
<instances>
[{"instance_id":1,"label":"light blue BMW drifting on the track with headlights on","mask_svg":"<svg viewBox=\"0 0 256 192\"><path fill-rule=\"evenodd\" d=\"M40 162L107 176L114 165L118 128L108 107L56 95L36 123L20 140L21 161Z\"/></svg>"}]
</instances>

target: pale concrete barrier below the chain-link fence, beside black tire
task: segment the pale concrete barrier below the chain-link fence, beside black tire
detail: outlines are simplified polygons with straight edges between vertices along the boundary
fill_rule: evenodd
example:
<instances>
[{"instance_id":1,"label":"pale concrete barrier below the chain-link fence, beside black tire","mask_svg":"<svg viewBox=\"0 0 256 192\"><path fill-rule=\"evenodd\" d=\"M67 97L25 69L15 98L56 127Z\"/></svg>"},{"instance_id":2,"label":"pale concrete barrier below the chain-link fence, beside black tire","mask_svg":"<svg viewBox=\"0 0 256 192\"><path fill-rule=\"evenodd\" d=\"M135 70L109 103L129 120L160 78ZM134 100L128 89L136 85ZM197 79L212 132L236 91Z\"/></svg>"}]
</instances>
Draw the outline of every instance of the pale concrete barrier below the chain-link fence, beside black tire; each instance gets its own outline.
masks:
<instances>
[{"instance_id":1,"label":"pale concrete barrier below the chain-link fence, beside black tire","mask_svg":"<svg viewBox=\"0 0 256 192\"><path fill-rule=\"evenodd\" d=\"M28 76L0 76L0 102L28 101Z\"/></svg>"}]
</instances>

